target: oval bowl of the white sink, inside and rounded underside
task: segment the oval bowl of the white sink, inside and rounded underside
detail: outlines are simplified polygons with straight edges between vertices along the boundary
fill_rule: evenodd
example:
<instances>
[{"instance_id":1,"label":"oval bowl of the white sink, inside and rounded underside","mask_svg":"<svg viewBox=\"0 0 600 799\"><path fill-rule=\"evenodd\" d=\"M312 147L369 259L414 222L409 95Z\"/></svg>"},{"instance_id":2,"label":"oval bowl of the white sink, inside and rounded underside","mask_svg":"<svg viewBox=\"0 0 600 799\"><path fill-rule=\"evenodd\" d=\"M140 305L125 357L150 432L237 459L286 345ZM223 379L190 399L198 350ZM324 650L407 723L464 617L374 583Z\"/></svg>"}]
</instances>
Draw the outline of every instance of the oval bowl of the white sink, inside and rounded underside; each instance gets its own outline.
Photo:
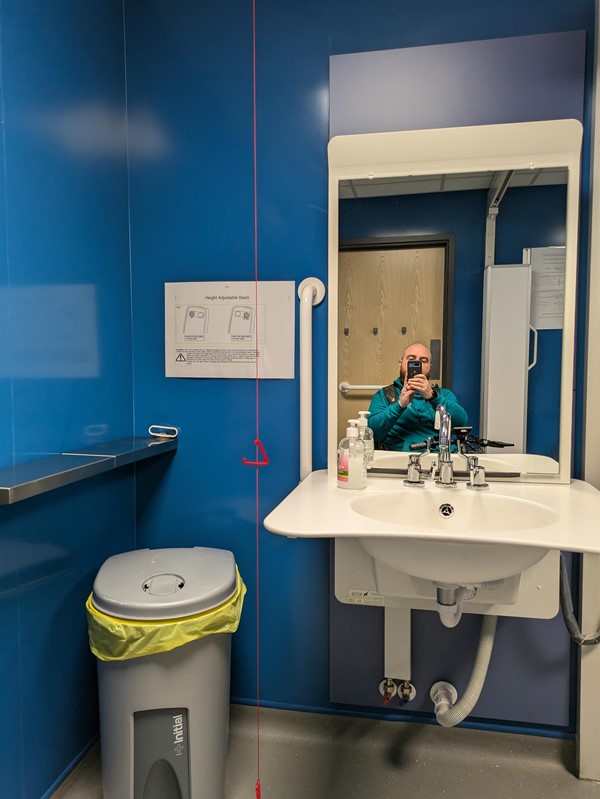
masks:
<instances>
[{"instance_id":1,"label":"oval bowl of the white sink, inside and rounded underside","mask_svg":"<svg viewBox=\"0 0 600 799\"><path fill-rule=\"evenodd\" d=\"M527 499L487 491L394 491L358 497L352 510L378 522L414 530L415 538L360 537L375 560L413 577L447 584L476 584L520 574L548 552L540 546L502 544L505 532L528 538L528 531L554 524L557 513ZM479 542L432 541L418 538L425 531L472 533ZM490 542L481 538L490 538Z\"/></svg>"}]
</instances>

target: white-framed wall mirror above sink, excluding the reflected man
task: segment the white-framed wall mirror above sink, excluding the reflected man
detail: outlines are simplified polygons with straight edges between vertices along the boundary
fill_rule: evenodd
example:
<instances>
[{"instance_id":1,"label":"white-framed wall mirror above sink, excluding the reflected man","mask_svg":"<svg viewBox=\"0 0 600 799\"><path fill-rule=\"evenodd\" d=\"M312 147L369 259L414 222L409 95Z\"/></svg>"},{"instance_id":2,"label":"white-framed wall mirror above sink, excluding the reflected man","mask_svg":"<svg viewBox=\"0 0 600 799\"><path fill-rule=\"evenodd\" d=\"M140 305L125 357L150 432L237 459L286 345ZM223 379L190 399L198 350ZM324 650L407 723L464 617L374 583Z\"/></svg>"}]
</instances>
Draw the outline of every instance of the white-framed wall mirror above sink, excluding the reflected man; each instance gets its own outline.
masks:
<instances>
[{"instance_id":1,"label":"white-framed wall mirror above sink, excluding the reflected man","mask_svg":"<svg viewBox=\"0 0 600 799\"><path fill-rule=\"evenodd\" d=\"M491 479L569 480L581 138L554 120L332 139L330 471L422 342L473 434L512 444L484 448Z\"/></svg>"}]
</instances>

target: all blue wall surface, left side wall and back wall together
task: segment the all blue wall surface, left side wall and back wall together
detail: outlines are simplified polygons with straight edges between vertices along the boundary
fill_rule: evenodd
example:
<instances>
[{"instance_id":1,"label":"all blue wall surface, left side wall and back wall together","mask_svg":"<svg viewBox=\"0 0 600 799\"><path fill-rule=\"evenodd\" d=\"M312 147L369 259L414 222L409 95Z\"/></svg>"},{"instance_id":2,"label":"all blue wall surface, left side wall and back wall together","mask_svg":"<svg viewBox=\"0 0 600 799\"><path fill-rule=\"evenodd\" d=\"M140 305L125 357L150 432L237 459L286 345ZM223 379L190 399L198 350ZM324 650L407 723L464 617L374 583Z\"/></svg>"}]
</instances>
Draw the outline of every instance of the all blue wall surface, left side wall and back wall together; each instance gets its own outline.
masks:
<instances>
[{"instance_id":1,"label":"all blue wall surface, left side wall and back wall together","mask_svg":"<svg viewBox=\"0 0 600 799\"><path fill-rule=\"evenodd\" d=\"M0 6L0 465L150 423L182 429L168 469L145 464L137 480L126 469L0 509L0 795L9 799L49 791L96 732L82 603L105 557L136 543L236 553L250 591L232 688L236 699L256 697L255 474L241 464L253 455L254 385L167 381L162 323L165 281L254 275L251 4L124 5L125 20L121 0ZM257 5L265 280L326 277L331 54L585 29L591 87L592 0L531 0L526 13L517 0L493 13L468 0ZM326 323L321 306L316 467L326 458ZM298 480L297 381L263 381L259 418L271 458L259 475L262 519ZM262 698L329 709L328 543L261 528L260 555ZM515 635L498 653L507 669ZM557 626L558 649L561 635ZM535 697L535 670L523 668ZM566 668L560 680L568 692ZM492 703L484 717L494 713Z\"/></svg>"}]
</instances>

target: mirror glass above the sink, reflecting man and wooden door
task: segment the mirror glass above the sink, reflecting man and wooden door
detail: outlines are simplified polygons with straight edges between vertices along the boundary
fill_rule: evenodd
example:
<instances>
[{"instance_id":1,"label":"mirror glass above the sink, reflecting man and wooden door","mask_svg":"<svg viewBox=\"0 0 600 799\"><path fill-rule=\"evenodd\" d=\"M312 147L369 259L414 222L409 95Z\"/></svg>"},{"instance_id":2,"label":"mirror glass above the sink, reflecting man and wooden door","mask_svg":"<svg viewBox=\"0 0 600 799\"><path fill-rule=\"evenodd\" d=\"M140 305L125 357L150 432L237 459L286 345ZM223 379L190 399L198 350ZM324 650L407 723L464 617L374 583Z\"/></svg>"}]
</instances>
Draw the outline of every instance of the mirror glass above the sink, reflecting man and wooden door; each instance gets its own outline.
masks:
<instances>
[{"instance_id":1,"label":"mirror glass above the sink, reflecting man and wooden door","mask_svg":"<svg viewBox=\"0 0 600 799\"><path fill-rule=\"evenodd\" d=\"M340 181L338 438L370 410L378 449L406 451L443 401L511 445L490 455L558 472L567 184L564 167Z\"/></svg>"}]
</instances>

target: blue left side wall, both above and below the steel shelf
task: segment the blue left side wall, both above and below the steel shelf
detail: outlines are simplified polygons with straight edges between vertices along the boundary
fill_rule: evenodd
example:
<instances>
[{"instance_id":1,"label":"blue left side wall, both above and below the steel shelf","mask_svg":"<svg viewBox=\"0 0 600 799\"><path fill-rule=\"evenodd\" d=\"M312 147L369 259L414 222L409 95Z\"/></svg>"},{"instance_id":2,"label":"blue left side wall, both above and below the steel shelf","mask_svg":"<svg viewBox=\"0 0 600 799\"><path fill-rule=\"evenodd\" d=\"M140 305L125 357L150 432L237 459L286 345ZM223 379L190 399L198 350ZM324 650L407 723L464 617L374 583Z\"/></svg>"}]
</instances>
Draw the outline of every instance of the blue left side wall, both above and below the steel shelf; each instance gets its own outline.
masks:
<instances>
[{"instance_id":1,"label":"blue left side wall, both above and below the steel shelf","mask_svg":"<svg viewBox=\"0 0 600 799\"><path fill-rule=\"evenodd\" d=\"M131 435L121 2L0 6L0 467ZM0 508L0 796L97 734L84 601L135 546L130 468Z\"/></svg>"}]
</instances>

